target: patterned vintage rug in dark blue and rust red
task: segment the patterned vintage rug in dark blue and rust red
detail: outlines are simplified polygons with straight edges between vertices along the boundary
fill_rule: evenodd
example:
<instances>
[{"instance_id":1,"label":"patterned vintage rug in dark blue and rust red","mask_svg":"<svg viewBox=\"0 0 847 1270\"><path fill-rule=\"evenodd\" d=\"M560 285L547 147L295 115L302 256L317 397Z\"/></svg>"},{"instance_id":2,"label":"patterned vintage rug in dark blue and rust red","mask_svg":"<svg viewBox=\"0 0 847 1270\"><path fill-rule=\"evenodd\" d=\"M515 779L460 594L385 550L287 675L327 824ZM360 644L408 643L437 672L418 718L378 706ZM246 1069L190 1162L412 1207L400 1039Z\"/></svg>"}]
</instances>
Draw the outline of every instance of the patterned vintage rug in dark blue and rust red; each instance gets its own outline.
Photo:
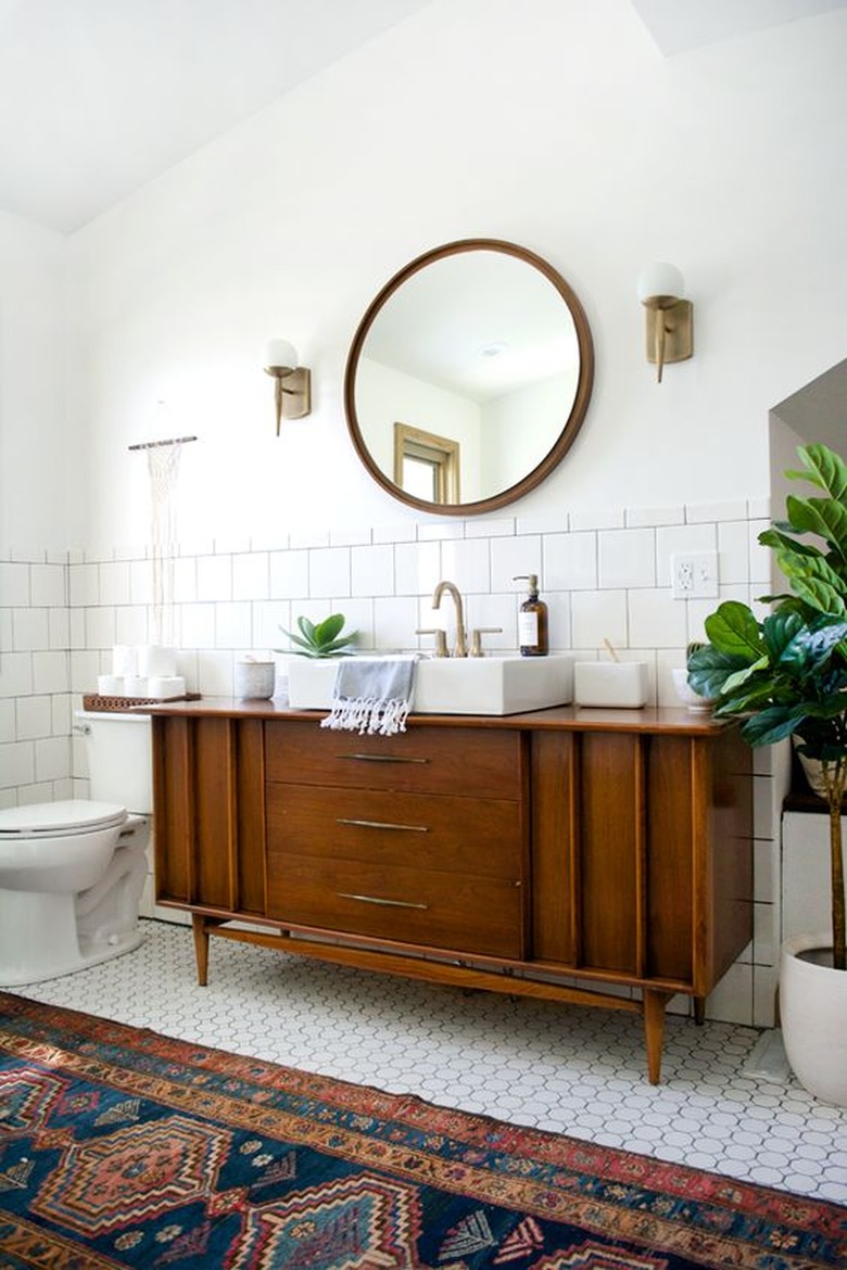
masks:
<instances>
[{"instance_id":1,"label":"patterned vintage rug in dark blue and rust red","mask_svg":"<svg viewBox=\"0 0 847 1270\"><path fill-rule=\"evenodd\" d=\"M811 1270L847 1209L0 993L0 1266Z\"/></svg>"}]
</instances>

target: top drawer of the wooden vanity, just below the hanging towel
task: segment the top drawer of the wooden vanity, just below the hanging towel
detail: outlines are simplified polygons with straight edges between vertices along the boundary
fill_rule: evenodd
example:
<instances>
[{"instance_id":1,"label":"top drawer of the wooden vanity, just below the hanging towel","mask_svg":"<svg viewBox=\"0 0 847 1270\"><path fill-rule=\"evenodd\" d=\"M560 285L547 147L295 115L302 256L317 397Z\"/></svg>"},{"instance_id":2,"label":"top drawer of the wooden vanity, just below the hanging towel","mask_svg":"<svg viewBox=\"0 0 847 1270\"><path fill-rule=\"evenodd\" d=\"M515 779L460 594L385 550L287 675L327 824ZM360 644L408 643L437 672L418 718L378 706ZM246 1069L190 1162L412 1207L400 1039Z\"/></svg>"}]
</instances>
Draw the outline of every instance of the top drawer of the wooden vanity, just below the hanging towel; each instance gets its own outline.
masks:
<instances>
[{"instance_id":1,"label":"top drawer of the wooden vanity, just below the hanging towel","mask_svg":"<svg viewBox=\"0 0 847 1270\"><path fill-rule=\"evenodd\" d=\"M523 738L509 729L410 728L396 737L358 737L302 721L265 726L269 781L347 789L467 794L519 799Z\"/></svg>"}]
</instances>

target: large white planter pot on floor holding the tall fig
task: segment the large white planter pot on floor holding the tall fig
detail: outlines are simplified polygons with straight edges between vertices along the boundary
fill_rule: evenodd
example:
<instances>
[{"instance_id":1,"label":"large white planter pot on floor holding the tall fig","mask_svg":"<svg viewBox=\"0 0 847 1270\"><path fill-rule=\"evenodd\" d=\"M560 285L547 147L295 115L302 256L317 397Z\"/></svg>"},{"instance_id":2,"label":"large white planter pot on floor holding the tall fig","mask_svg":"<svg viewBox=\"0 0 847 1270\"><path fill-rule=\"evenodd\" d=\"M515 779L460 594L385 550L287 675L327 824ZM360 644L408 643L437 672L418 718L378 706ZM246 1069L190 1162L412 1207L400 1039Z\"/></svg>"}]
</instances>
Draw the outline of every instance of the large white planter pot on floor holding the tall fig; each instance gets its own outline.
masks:
<instances>
[{"instance_id":1,"label":"large white planter pot on floor holding the tall fig","mask_svg":"<svg viewBox=\"0 0 847 1270\"><path fill-rule=\"evenodd\" d=\"M830 935L782 945L780 1017L789 1063L824 1102L847 1106L847 970L832 968Z\"/></svg>"}]
</instances>

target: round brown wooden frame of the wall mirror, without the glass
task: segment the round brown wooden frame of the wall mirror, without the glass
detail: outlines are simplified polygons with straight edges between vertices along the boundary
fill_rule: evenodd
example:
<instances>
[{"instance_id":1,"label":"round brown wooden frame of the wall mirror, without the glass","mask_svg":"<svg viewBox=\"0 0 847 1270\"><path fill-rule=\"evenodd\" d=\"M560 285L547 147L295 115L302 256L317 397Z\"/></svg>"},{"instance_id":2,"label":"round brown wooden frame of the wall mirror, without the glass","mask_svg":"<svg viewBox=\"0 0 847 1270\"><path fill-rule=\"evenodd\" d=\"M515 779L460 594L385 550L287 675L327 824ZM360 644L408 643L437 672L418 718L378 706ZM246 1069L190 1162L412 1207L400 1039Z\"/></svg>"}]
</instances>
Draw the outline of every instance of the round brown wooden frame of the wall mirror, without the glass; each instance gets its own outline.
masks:
<instances>
[{"instance_id":1,"label":"round brown wooden frame of the wall mirror, without the glass","mask_svg":"<svg viewBox=\"0 0 847 1270\"><path fill-rule=\"evenodd\" d=\"M457 255L462 251L502 251L505 255L516 257L518 260L523 260L526 264L536 268L550 283L552 283L568 306L574 323L577 343L579 347L579 377L570 413L557 439L541 462L527 472L526 476L523 476L519 481L516 481L516 484L509 485L507 489L500 490L497 494L491 494L489 498L477 499L472 503L429 503L425 499L417 498L414 494L408 494L375 462L368 447L364 443L358 415L356 413L356 375L368 331L383 305L391 298L391 296L403 286L404 282L420 269L425 269L427 265L434 264L437 260L443 260L447 257ZM516 246L514 243L505 243L499 239L462 239L456 243L447 243L444 246L434 248L432 251L424 251L423 255L417 257L417 259L411 260L403 269L400 269L399 273L395 273L395 276L382 287L366 310L366 314L357 328L356 335L353 337L344 372L344 409L347 413L347 427L350 439L353 441L353 446L356 447L356 452L364 464L366 469L370 471L373 480L389 494L391 494L392 498L399 499L408 507L415 507L422 512L430 512L434 516L475 516L481 512L495 512L498 508L505 507L508 503L514 503L518 498L523 498L524 494L528 494L530 490L540 485L541 481L550 475L554 467L561 462L577 439L577 433L579 432L585 418L593 382L594 345L592 342L590 328L588 325L588 318L585 316L585 311L575 292L565 282L561 274L557 273L556 269L554 269L552 265L550 265L540 255L536 255L526 248Z\"/></svg>"}]
</instances>

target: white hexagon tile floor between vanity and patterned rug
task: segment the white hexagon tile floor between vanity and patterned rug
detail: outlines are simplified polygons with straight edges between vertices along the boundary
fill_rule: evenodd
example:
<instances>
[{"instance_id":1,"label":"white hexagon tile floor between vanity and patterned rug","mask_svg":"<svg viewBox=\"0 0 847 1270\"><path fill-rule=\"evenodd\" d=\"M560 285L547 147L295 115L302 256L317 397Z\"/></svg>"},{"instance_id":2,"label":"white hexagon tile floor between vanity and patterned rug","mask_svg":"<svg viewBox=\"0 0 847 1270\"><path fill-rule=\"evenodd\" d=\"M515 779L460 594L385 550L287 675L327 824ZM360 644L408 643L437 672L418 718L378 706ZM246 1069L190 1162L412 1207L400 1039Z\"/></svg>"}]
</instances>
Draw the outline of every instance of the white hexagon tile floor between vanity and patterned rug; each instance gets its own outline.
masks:
<instances>
[{"instance_id":1,"label":"white hexagon tile floor between vanity and patterned rug","mask_svg":"<svg viewBox=\"0 0 847 1270\"><path fill-rule=\"evenodd\" d=\"M17 989L288 1067L417 1093L781 1190L847 1204L847 1109L786 1069L750 1067L761 1033L668 1016L648 1083L631 1015L467 993L212 940L197 986L190 931L145 921L135 952Z\"/></svg>"}]
</instances>

